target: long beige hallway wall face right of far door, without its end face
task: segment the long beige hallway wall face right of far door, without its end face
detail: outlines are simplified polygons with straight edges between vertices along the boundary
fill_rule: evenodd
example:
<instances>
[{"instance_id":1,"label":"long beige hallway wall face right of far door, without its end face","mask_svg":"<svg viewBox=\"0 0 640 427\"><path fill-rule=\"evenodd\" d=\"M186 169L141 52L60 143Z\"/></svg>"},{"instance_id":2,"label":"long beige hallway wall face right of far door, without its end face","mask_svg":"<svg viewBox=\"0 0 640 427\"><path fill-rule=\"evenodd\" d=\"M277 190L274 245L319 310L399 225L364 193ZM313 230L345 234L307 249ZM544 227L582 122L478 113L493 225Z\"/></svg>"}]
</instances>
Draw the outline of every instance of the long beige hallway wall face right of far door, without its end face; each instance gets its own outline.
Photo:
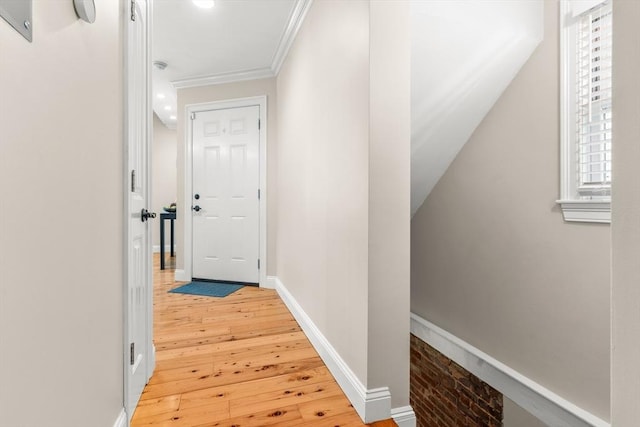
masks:
<instances>
[{"instance_id":1,"label":"long beige hallway wall face right of far door, without its end face","mask_svg":"<svg viewBox=\"0 0 640 427\"><path fill-rule=\"evenodd\" d=\"M369 6L315 1L278 75L278 277L367 381Z\"/></svg>"}]
</instances>

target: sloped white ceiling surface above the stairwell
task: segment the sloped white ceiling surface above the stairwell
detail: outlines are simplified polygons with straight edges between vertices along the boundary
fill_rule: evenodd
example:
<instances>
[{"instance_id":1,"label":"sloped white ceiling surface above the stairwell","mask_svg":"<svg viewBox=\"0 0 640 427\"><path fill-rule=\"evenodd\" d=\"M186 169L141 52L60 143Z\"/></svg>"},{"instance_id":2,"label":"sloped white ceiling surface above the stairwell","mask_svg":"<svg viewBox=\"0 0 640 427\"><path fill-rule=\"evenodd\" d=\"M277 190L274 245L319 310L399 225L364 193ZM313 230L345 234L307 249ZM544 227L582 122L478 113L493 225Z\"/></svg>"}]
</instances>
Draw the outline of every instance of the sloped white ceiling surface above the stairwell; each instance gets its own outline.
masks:
<instances>
[{"instance_id":1,"label":"sloped white ceiling surface above the stairwell","mask_svg":"<svg viewBox=\"0 0 640 427\"><path fill-rule=\"evenodd\" d=\"M543 2L411 4L411 215L543 36Z\"/></svg>"}]
</instances>

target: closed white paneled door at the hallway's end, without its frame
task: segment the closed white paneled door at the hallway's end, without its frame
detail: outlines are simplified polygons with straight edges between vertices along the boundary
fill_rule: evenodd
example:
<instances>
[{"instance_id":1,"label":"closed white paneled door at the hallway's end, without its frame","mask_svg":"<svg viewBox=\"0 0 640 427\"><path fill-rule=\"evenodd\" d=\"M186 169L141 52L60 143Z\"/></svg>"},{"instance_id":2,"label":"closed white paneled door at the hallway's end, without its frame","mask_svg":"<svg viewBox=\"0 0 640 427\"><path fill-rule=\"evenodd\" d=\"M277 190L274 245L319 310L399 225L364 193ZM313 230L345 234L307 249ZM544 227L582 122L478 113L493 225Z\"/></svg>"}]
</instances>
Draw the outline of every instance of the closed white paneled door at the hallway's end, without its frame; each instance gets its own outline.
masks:
<instances>
[{"instance_id":1,"label":"closed white paneled door at the hallway's end, without its frame","mask_svg":"<svg viewBox=\"0 0 640 427\"><path fill-rule=\"evenodd\" d=\"M260 107L192 116L192 275L259 282Z\"/></svg>"}]
</instances>

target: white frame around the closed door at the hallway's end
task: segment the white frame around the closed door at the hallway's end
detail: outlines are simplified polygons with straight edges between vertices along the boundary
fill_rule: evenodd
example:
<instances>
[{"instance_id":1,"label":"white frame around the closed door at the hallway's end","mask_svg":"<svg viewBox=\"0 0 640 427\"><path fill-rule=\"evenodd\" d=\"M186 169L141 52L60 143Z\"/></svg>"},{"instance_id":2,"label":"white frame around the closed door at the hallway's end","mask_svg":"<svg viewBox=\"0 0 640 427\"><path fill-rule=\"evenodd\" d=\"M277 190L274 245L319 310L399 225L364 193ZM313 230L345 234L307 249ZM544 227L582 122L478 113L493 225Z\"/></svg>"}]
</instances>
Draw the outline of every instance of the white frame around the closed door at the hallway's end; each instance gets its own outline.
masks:
<instances>
[{"instance_id":1,"label":"white frame around the closed door at the hallway's end","mask_svg":"<svg viewBox=\"0 0 640 427\"><path fill-rule=\"evenodd\" d=\"M193 215L191 214L191 203L187 201L191 200L190 194L192 194L193 188L193 135L191 126L191 114L211 111L211 110L226 110L229 108L241 108L241 107L260 107L260 129L258 135L260 141L258 142L258 148L260 151L259 168L260 168L260 200L259 200L259 214L260 214L260 282L259 286L265 287L267 285L267 96L253 96L248 98L228 99L222 101L211 101L199 104L189 104L185 106L184 111L184 123L186 124L185 141L184 141L184 206L182 206L182 215L184 218L184 270L181 272L188 278L193 279ZM178 279L178 278L176 278ZM180 280L185 280L185 277L180 277Z\"/></svg>"}]
</instances>

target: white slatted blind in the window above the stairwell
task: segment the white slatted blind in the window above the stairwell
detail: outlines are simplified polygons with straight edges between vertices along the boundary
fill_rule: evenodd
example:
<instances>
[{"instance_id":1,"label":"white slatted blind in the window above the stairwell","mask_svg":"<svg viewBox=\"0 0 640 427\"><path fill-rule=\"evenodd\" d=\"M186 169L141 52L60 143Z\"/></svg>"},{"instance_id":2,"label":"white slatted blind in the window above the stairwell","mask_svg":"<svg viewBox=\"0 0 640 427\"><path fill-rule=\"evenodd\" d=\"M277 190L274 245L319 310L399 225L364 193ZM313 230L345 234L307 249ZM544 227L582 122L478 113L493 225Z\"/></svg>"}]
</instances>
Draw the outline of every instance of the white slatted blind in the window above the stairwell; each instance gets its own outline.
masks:
<instances>
[{"instance_id":1,"label":"white slatted blind in the window above the stairwell","mask_svg":"<svg viewBox=\"0 0 640 427\"><path fill-rule=\"evenodd\" d=\"M579 17L576 37L576 173L582 198L611 194L611 2Z\"/></svg>"}]
</instances>

